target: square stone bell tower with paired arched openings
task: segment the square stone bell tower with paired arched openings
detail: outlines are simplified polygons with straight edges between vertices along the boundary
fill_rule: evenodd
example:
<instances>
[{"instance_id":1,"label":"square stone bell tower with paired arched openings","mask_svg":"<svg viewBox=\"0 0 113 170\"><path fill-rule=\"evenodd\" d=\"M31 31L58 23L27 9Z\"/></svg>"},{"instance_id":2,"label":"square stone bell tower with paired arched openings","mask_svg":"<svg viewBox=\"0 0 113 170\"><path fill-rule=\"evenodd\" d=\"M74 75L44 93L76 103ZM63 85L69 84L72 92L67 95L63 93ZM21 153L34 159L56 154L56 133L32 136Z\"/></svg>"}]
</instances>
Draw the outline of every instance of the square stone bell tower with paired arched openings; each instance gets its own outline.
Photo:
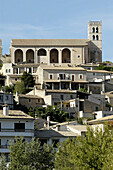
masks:
<instances>
[{"instance_id":1,"label":"square stone bell tower with paired arched openings","mask_svg":"<svg viewBox=\"0 0 113 170\"><path fill-rule=\"evenodd\" d=\"M102 21L88 22L89 62L102 62Z\"/></svg>"}]
</instances>

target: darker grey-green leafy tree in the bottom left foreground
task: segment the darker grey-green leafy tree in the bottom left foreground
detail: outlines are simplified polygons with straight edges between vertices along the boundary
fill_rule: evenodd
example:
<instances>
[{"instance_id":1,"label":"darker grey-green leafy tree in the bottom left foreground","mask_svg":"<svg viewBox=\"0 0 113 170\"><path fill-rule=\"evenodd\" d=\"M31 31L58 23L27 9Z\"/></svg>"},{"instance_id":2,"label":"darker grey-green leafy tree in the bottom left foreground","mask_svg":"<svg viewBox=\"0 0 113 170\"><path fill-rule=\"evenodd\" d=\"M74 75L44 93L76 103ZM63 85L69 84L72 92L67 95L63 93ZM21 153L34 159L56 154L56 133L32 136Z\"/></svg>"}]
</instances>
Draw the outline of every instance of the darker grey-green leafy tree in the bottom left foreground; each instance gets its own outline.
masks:
<instances>
[{"instance_id":1,"label":"darker grey-green leafy tree in the bottom left foreground","mask_svg":"<svg viewBox=\"0 0 113 170\"><path fill-rule=\"evenodd\" d=\"M10 143L10 170L46 170L53 168L54 149L47 144L43 147L39 140L23 142L23 137L16 137Z\"/></svg>"}]
</instances>

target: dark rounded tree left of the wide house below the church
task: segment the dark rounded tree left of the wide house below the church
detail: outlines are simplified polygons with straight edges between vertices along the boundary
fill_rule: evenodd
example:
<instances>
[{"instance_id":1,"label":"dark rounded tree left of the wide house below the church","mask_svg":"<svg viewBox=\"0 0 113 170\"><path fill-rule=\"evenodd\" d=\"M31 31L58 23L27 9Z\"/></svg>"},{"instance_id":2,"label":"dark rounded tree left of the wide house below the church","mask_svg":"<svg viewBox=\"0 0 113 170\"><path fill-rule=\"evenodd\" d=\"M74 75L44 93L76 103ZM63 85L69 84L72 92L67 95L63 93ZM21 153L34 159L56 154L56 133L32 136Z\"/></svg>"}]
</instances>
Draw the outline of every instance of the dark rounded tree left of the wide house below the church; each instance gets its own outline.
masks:
<instances>
[{"instance_id":1,"label":"dark rounded tree left of the wide house below the church","mask_svg":"<svg viewBox=\"0 0 113 170\"><path fill-rule=\"evenodd\" d=\"M30 73L24 72L21 76L21 81L24 83L25 88L33 87L35 85L35 80Z\"/></svg>"}]
</instances>

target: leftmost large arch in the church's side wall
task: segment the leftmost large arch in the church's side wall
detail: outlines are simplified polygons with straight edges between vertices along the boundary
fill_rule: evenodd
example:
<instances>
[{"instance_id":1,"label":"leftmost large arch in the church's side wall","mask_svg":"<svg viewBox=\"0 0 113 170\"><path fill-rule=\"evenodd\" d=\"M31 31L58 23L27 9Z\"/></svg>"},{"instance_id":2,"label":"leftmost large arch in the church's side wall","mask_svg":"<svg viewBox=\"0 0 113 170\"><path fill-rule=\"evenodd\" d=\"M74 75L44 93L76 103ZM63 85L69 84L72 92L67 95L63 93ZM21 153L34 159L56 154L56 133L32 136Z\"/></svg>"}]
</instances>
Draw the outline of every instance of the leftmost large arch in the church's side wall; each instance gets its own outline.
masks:
<instances>
[{"instance_id":1,"label":"leftmost large arch in the church's side wall","mask_svg":"<svg viewBox=\"0 0 113 170\"><path fill-rule=\"evenodd\" d=\"M23 62L23 51L21 49L17 49L15 51L15 63Z\"/></svg>"}]
</instances>

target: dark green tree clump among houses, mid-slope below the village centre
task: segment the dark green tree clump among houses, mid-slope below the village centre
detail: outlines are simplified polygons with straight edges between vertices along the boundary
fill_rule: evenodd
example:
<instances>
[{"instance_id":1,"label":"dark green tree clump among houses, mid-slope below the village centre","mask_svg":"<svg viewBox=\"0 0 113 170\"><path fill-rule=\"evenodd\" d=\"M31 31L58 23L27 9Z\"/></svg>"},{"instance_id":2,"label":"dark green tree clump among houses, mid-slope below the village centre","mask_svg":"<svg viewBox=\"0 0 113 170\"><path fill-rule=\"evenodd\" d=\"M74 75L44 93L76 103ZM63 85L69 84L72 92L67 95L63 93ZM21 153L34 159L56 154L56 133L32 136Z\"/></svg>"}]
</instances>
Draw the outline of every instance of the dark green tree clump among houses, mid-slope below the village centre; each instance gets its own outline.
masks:
<instances>
[{"instance_id":1,"label":"dark green tree clump among houses, mid-slope below the village centre","mask_svg":"<svg viewBox=\"0 0 113 170\"><path fill-rule=\"evenodd\" d=\"M46 107L36 107L35 108L35 115L46 119L47 116L50 116L52 121L56 122L65 122L67 118L67 113L61 110L61 108L57 108L54 106Z\"/></svg>"}]
</instances>

